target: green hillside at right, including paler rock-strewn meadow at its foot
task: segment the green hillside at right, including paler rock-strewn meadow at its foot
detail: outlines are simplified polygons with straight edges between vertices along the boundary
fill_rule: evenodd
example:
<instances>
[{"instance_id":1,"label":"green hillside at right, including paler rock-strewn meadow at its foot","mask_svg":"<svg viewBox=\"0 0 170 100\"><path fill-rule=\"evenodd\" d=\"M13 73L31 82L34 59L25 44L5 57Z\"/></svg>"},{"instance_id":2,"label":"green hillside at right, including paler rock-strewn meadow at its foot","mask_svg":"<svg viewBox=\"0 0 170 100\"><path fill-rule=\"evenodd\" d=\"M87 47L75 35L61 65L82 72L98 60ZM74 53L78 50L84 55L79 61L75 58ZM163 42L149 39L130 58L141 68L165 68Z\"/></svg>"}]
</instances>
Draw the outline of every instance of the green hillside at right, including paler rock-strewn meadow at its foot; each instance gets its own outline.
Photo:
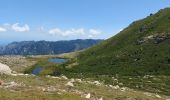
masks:
<instances>
[{"instance_id":1,"label":"green hillside at right, including paler rock-strewn meadow at its foot","mask_svg":"<svg viewBox=\"0 0 170 100\"><path fill-rule=\"evenodd\" d=\"M68 67L67 66L70 66ZM93 78L170 95L170 8L150 14L56 69L68 77Z\"/></svg>"}]
</instances>

